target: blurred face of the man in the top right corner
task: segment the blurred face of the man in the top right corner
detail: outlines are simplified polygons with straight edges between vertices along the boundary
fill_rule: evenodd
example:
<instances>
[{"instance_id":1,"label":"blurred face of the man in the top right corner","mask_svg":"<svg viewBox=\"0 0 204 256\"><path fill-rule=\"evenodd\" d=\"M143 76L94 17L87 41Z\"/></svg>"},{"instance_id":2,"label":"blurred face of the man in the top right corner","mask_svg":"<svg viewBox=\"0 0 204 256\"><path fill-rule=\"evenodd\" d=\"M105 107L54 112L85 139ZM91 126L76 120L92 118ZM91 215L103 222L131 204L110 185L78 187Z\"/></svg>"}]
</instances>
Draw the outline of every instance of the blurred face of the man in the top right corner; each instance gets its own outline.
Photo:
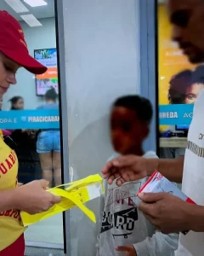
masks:
<instances>
[{"instance_id":1,"label":"blurred face of the man in the top right corner","mask_svg":"<svg viewBox=\"0 0 204 256\"><path fill-rule=\"evenodd\" d=\"M178 42L190 62L204 61L204 1L167 0L172 38Z\"/></svg>"}]
</instances>

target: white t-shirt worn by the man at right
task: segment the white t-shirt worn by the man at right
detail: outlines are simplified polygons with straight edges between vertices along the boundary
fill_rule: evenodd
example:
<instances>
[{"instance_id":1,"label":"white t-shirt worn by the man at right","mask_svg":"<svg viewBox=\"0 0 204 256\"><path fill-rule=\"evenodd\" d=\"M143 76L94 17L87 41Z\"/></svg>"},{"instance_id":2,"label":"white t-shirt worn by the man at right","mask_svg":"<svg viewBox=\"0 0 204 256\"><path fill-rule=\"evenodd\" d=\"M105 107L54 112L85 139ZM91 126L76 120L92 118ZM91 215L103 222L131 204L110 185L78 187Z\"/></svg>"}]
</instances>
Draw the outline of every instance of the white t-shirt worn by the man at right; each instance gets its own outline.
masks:
<instances>
[{"instance_id":1,"label":"white t-shirt worn by the man at right","mask_svg":"<svg viewBox=\"0 0 204 256\"><path fill-rule=\"evenodd\" d=\"M204 206L204 90L195 102L193 120L184 156L182 190L196 204ZM203 216L204 218L204 216ZM180 235L177 256L203 256L204 232Z\"/></svg>"}]
</instances>

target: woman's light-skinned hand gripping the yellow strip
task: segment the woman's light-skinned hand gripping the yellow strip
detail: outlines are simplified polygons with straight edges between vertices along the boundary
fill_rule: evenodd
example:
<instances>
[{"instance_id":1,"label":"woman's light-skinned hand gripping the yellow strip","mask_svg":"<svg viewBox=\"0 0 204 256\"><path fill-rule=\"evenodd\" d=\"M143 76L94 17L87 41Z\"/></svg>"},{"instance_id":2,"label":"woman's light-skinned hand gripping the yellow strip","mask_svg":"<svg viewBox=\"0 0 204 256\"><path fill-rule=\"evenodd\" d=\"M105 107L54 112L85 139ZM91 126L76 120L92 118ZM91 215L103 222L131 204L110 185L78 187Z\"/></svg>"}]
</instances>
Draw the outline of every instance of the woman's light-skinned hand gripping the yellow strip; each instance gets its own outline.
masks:
<instances>
[{"instance_id":1,"label":"woman's light-skinned hand gripping the yellow strip","mask_svg":"<svg viewBox=\"0 0 204 256\"><path fill-rule=\"evenodd\" d=\"M48 211L50 207L61 201L61 197L45 191L47 188L46 180L35 180L20 186L14 196L15 208L30 214Z\"/></svg>"}]
</instances>

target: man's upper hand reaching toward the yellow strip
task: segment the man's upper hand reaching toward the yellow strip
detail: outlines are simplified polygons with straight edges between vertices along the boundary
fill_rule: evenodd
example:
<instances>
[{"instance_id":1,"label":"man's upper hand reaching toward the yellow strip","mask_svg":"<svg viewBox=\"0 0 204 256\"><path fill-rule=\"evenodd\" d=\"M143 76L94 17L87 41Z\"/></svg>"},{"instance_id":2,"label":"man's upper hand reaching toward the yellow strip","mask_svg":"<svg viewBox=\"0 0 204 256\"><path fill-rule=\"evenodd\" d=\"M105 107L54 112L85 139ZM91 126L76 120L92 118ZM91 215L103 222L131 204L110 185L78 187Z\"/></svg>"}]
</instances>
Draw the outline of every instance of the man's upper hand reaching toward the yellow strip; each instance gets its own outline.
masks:
<instances>
[{"instance_id":1,"label":"man's upper hand reaching toward the yellow strip","mask_svg":"<svg viewBox=\"0 0 204 256\"><path fill-rule=\"evenodd\" d=\"M148 164L149 160L132 154L119 156L103 167L102 176L108 179L109 184L117 178L116 184L121 186L122 183L147 177L150 171L154 172L156 166L153 164L155 165L157 160Z\"/></svg>"}]
</instances>

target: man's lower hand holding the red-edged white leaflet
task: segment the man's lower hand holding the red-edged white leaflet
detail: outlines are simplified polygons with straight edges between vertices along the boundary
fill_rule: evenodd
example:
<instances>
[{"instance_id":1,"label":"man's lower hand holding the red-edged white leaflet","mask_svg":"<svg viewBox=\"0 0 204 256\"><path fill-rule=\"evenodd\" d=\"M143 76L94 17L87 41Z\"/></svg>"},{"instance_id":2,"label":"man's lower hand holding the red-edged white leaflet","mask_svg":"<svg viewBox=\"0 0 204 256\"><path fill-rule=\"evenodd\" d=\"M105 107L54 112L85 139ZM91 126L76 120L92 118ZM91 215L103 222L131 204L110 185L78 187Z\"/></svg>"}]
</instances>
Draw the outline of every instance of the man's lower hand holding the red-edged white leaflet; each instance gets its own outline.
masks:
<instances>
[{"instance_id":1,"label":"man's lower hand holding the red-edged white leaflet","mask_svg":"<svg viewBox=\"0 0 204 256\"><path fill-rule=\"evenodd\" d=\"M168 193L141 193L139 210L164 234L190 230L193 204Z\"/></svg>"}]
</instances>

